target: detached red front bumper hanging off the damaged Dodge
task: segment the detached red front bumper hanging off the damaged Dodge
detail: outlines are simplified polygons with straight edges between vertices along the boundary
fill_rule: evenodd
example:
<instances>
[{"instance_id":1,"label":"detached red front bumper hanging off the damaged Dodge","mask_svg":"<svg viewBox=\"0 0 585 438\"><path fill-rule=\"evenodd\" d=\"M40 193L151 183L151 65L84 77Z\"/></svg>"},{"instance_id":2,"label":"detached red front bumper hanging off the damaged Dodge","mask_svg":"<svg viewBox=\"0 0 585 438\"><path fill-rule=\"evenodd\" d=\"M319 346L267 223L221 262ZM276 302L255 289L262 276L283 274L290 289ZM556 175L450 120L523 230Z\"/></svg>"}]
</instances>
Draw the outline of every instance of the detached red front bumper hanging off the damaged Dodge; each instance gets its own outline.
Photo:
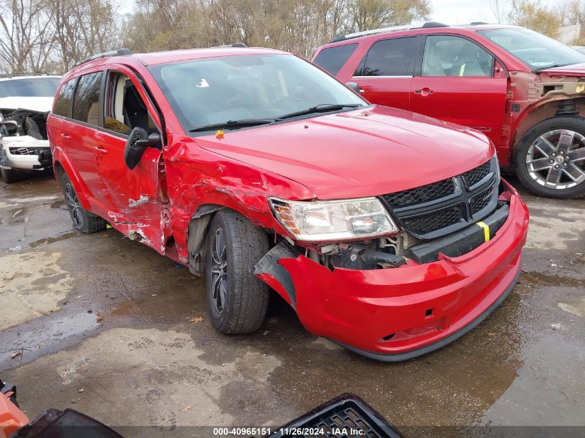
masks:
<instances>
[{"instance_id":1,"label":"detached red front bumper hanging off the damaged Dodge","mask_svg":"<svg viewBox=\"0 0 585 438\"><path fill-rule=\"evenodd\" d=\"M258 276L285 296L313 334L381 361L426 354L476 327L516 283L528 208L508 188L505 223L465 255L368 271L330 271L298 255L278 259L288 278L274 271Z\"/></svg>"}]
</instances>

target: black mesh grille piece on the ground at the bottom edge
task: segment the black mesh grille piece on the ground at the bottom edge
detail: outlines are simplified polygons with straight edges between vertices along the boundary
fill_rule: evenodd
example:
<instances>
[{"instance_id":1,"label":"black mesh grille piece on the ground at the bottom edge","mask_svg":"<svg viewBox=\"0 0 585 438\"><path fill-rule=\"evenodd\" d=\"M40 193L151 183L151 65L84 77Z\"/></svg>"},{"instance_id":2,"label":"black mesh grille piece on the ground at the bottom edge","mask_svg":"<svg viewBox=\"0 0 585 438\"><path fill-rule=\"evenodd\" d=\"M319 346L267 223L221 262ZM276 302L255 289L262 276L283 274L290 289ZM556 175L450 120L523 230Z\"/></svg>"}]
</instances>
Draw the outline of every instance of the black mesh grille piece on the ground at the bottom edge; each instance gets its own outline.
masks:
<instances>
[{"instance_id":1,"label":"black mesh grille piece on the ground at the bottom edge","mask_svg":"<svg viewBox=\"0 0 585 438\"><path fill-rule=\"evenodd\" d=\"M401 438L402 435L368 403L355 394L345 393L278 428L269 437Z\"/></svg>"}]
</instances>

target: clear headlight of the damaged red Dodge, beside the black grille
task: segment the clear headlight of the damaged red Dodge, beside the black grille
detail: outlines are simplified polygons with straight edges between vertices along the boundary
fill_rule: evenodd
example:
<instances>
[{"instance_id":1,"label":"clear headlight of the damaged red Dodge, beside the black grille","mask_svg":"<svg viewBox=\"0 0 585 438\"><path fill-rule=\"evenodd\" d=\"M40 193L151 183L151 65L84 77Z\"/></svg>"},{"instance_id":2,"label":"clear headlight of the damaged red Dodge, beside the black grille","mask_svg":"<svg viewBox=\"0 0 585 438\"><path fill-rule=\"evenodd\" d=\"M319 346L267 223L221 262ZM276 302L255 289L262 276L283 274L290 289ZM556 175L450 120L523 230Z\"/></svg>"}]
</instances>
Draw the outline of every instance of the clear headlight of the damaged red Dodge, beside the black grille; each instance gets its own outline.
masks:
<instances>
[{"instance_id":1,"label":"clear headlight of the damaged red Dodge, beside the black grille","mask_svg":"<svg viewBox=\"0 0 585 438\"><path fill-rule=\"evenodd\" d=\"M276 219L300 241L341 241L397 232L377 198L285 201L270 198Z\"/></svg>"}]
</instances>

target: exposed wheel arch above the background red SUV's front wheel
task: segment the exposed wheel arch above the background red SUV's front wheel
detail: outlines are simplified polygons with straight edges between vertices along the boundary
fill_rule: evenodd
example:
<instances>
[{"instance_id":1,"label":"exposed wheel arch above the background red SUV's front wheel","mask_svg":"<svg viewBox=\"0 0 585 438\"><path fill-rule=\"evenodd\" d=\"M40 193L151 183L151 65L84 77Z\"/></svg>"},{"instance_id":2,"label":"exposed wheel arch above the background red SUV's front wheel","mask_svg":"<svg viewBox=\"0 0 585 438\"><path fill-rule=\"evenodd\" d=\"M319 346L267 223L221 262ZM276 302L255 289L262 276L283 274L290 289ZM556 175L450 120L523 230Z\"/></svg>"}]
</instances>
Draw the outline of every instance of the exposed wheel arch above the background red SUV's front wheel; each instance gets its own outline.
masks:
<instances>
[{"instance_id":1,"label":"exposed wheel arch above the background red SUV's front wheel","mask_svg":"<svg viewBox=\"0 0 585 438\"><path fill-rule=\"evenodd\" d=\"M562 116L582 116L585 117L585 98L550 100L539 107L532 109L530 113L522 120L516 134L514 134L514 144L510 149L510 161L514 162L514 151L520 140L530 128L537 123L543 122L549 118Z\"/></svg>"}]
</instances>

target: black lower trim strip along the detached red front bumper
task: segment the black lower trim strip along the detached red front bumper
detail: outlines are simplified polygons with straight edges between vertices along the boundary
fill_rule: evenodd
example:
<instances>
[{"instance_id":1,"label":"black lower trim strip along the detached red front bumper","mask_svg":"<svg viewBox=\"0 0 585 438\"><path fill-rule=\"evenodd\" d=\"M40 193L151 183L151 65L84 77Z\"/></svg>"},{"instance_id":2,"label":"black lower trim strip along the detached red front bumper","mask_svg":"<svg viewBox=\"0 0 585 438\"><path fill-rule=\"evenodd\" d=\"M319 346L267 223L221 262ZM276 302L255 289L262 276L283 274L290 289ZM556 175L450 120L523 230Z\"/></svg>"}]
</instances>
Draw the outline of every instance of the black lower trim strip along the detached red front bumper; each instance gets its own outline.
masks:
<instances>
[{"instance_id":1,"label":"black lower trim strip along the detached red front bumper","mask_svg":"<svg viewBox=\"0 0 585 438\"><path fill-rule=\"evenodd\" d=\"M412 359L412 358L422 356L422 355L427 354L427 353L434 352L435 350L440 349L440 348L444 347L445 345L449 345L454 340L458 340L461 336L465 335L468 331L471 331L474 328L476 328L478 325L480 325L480 323L483 322L483 320L485 320L485 318L487 318L490 313L492 313L494 310L496 310L496 308L500 304L502 304L502 302L507 298L507 295L510 295L510 292L512 292L512 289L514 289L514 286L516 286L516 282L518 282L518 278L520 277L520 273L521 273L521 271L519 269L518 273L514 277L514 280L512 280L512 282L510 283L510 286L507 286L506 290L498 297L498 299L496 301L494 301L492 303L492 305L490 305L487 309L485 309L485 311L483 313L481 313L480 316L478 316L473 321L469 322L468 325L466 325L465 327L463 327L459 331L456 331L455 333L451 334L450 336L447 336L447 338L443 338L441 340L438 340L437 342L435 342L433 344L425 345L424 347L421 347L421 348L418 348L418 349L415 349L415 350L412 350L412 351L406 352L406 353L382 354L382 353L368 352L366 350L352 347L351 345L345 345L345 344L340 343L339 341L331 339L331 338L330 338L330 340L338 345L341 345L341 347L344 347L344 348L350 350L351 352L361 354L361 356L365 356L367 358L374 359L375 361L381 361L381 362L408 361L408 359Z\"/></svg>"}]
</instances>

